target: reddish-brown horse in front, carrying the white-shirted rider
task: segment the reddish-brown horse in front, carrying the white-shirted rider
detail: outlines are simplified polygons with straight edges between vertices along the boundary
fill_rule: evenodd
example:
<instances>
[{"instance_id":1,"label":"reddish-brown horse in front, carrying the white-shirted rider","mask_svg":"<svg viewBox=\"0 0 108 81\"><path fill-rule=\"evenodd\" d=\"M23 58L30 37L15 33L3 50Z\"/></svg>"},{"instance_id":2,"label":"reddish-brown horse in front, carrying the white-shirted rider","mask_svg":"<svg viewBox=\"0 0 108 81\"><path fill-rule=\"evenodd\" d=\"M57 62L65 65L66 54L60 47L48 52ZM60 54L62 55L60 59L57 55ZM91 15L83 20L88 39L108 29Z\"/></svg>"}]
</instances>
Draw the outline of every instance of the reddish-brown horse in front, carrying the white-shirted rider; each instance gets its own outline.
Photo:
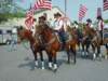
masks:
<instances>
[{"instance_id":1,"label":"reddish-brown horse in front, carrying the white-shirted rider","mask_svg":"<svg viewBox=\"0 0 108 81\"><path fill-rule=\"evenodd\" d=\"M39 29L37 32L40 35L41 40L45 46L45 51L49 54L49 62L50 62L50 68L52 67L52 62L54 63L54 70L57 70L57 63L56 63L56 56L57 56L57 52L60 51L60 42L58 40L58 37L56 36L54 29L50 28L46 24L40 25L38 27ZM73 42L75 40L69 40L68 42L66 42L66 50L67 53L69 53L69 51L73 52L73 63L76 64L76 42ZM70 55L68 55L68 62L70 60Z\"/></svg>"}]
</instances>

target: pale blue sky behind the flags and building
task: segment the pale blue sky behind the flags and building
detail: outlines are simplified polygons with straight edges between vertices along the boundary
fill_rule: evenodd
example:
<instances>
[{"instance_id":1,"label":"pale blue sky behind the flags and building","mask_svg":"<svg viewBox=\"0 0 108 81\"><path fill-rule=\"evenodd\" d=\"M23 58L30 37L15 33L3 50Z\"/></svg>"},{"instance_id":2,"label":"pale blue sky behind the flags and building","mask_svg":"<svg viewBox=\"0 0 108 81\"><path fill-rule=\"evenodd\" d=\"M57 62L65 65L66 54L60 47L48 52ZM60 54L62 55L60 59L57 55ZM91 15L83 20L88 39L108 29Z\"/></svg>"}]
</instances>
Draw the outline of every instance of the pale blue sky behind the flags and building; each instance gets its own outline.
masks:
<instances>
[{"instance_id":1,"label":"pale blue sky behind the flags and building","mask_svg":"<svg viewBox=\"0 0 108 81\"><path fill-rule=\"evenodd\" d=\"M16 3L24 8L29 9L30 3L35 3L36 0L16 0ZM63 12L65 12L65 0L52 0L53 6L58 6ZM86 18L92 18L96 21L97 8L103 9L103 0L67 0L67 16L71 21L78 21L79 8L83 4L87 8L87 12L83 22ZM108 11L102 12L103 18L108 19Z\"/></svg>"}]
</instances>

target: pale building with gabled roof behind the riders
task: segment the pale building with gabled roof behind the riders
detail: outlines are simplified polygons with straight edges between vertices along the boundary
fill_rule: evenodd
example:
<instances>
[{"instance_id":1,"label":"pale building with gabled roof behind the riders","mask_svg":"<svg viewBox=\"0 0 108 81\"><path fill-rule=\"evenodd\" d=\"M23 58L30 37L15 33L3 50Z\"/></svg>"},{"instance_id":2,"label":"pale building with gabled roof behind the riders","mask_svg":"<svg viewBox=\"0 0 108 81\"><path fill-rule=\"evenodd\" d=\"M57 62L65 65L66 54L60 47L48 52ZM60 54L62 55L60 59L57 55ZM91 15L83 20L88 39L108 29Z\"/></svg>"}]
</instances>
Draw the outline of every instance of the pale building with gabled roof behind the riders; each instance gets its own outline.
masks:
<instances>
[{"instance_id":1,"label":"pale building with gabled roof behind the riders","mask_svg":"<svg viewBox=\"0 0 108 81\"><path fill-rule=\"evenodd\" d=\"M58 8L58 6L53 6L52 10L40 10L37 11L35 13L35 18L38 21L38 17L42 16L44 13L48 14L48 21L54 21L54 14L56 12L59 12L63 16L65 16L65 13ZM6 22L3 25L8 25L8 26L19 26L23 25L25 26L25 19L26 17L22 17L22 18L14 18L14 19L9 19L9 22Z\"/></svg>"}]
</instances>

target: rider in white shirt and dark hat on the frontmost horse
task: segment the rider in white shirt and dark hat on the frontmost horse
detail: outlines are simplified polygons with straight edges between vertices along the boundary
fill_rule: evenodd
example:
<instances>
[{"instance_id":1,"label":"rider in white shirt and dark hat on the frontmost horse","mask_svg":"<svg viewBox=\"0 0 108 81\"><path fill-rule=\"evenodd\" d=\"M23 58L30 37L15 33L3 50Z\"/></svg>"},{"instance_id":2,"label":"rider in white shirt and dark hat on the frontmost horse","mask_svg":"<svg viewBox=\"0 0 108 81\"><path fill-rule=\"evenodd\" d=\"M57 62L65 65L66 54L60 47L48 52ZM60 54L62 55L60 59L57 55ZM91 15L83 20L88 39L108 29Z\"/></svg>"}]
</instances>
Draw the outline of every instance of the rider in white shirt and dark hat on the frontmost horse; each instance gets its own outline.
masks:
<instances>
[{"instance_id":1,"label":"rider in white shirt and dark hat on the frontmost horse","mask_svg":"<svg viewBox=\"0 0 108 81\"><path fill-rule=\"evenodd\" d=\"M64 49L66 42L66 24L64 22L64 18L62 17L62 14L58 12L54 14L54 18L55 18L54 29L59 35L60 41L63 43L62 49Z\"/></svg>"}]
</instances>

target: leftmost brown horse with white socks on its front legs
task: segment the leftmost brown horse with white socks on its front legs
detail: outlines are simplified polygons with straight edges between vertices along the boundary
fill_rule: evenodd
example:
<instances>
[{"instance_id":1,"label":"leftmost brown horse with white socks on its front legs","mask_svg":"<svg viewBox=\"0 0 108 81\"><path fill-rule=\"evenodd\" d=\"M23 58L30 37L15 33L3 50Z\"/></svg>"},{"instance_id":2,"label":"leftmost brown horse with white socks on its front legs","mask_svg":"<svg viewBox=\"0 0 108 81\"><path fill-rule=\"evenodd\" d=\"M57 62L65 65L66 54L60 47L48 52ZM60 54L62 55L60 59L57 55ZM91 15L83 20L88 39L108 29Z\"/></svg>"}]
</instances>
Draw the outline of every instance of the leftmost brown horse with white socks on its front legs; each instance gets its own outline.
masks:
<instances>
[{"instance_id":1,"label":"leftmost brown horse with white socks on its front legs","mask_svg":"<svg viewBox=\"0 0 108 81\"><path fill-rule=\"evenodd\" d=\"M17 28L17 36L18 36L18 42L22 42L23 40L27 40L30 43L30 49L32 51L32 54L35 56L35 68L38 67L38 57L37 53L40 55L41 59L41 69L44 69L44 62L43 62L43 48L40 43L40 40L37 37L32 37L31 30L25 29L23 27Z\"/></svg>"}]
</instances>

